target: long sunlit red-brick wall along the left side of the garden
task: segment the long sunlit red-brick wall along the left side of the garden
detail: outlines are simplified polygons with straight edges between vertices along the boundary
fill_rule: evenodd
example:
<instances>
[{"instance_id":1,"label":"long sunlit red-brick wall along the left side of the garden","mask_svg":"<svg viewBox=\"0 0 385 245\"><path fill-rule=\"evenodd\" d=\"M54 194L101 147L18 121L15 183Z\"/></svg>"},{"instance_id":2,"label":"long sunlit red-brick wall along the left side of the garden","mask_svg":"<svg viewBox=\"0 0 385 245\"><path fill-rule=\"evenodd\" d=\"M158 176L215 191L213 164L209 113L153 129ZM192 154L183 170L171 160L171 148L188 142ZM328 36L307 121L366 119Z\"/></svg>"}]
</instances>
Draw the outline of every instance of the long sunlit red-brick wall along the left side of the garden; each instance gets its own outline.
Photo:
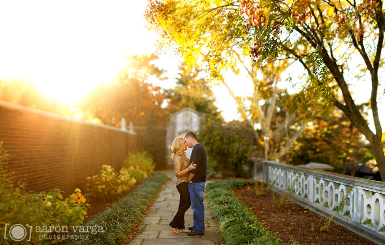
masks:
<instances>
[{"instance_id":1,"label":"long sunlit red-brick wall along the left side of the garden","mask_svg":"<svg viewBox=\"0 0 385 245\"><path fill-rule=\"evenodd\" d=\"M8 171L26 191L82 189L103 164L119 170L137 136L114 127L0 102L0 141L9 150Z\"/></svg>"}]
</instances>

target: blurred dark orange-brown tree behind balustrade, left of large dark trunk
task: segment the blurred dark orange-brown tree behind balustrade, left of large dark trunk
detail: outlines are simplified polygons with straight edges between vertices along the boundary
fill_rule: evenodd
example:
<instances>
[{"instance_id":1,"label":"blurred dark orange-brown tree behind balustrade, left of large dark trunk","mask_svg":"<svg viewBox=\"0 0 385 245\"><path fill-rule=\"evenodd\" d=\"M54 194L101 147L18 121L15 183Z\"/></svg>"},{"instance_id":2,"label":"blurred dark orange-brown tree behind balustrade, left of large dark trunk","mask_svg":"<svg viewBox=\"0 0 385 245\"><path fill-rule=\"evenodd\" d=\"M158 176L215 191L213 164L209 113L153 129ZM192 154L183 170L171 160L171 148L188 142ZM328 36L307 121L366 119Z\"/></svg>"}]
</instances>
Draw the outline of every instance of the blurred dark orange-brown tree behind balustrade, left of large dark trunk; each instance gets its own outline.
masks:
<instances>
[{"instance_id":1,"label":"blurred dark orange-brown tree behind balustrade, left of large dark trunk","mask_svg":"<svg viewBox=\"0 0 385 245\"><path fill-rule=\"evenodd\" d=\"M367 142L341 111L329 117L315 117L310 127L298 138L288 161L295 165L318 162L330 164L337 172L345 172L346 163L357 166L372 158ZM354 171L350 174L354 174Z\"/></svg>"}]
</instances>

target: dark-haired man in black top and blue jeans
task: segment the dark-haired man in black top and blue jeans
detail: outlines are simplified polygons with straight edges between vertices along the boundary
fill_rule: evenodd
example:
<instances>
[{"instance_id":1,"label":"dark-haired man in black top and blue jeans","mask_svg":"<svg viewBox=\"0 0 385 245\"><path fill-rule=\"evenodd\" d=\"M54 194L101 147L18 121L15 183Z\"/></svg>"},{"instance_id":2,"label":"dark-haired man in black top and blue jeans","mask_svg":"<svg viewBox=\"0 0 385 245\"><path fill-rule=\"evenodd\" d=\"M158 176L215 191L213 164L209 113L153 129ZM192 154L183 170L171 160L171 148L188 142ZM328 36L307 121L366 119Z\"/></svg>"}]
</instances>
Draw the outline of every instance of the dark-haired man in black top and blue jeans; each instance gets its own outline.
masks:
<instances>
[{"instance_id":1,"label":"dark-haired man in black top and blue jeans","mask_svg":"<svg viewBox=\"0 0 385 245\"><path fill-rule=\"evenodd\" d=\"M188 227L190 232L187 235L205 234L205 205L203 204L203 193L206 185L207 156L205 149L198 143L197 136L189 132L184 136L184 141L188 148L193 148L191 152L190 164L197 165L196 169L191 170L188 177L188 192L190 193L191 209L194 211L194 226Z\"/></svg>"}]
</instances>

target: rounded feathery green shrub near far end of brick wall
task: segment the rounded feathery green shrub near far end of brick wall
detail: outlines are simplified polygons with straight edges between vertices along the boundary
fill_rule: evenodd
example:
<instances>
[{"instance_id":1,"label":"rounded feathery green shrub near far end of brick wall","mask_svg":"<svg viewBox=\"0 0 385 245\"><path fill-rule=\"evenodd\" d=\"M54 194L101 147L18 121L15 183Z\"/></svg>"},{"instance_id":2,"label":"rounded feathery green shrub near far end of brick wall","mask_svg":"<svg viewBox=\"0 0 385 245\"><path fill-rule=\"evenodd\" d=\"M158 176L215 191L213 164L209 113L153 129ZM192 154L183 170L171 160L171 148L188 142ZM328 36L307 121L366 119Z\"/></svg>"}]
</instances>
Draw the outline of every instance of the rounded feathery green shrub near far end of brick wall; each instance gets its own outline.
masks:
<instances>
[{"instance_id":1,"label":"rounded feathery green shrub near far end of brick wall","mask_svg":"<svg viewBox=\"0 0 385 245\"><path fill-rule=\"evenodd\" d=\"M128 156L124 159L123 167L128 169L131 166L138 166L147 175L150 175L155 168L154 161L147 152L128 153Z\"/></svg>"}]
</instances>

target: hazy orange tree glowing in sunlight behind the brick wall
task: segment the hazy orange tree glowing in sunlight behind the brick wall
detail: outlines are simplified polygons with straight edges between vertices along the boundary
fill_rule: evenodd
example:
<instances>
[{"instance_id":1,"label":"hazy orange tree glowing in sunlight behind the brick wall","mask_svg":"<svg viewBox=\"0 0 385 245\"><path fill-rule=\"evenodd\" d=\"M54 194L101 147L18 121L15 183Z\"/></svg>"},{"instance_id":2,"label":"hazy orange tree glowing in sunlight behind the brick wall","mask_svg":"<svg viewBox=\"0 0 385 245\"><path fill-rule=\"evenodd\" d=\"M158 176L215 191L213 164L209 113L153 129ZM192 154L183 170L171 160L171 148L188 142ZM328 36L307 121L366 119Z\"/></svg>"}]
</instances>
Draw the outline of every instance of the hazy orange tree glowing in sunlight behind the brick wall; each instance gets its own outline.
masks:
<instances>
[{"instance_id":1,"label":"hazy orange tree glowing in sunlight behind the brick wall","mask_svg":"<svg viewBox=\"0 0 385 245\"><path fill-rule=\"evenodd\" d=\"M154 59L154 54L128 56L126 67L114 81L100 83L85 97L83 110L109 126L118 127L122 117L135 126L144 126L149 120L164 126L167 113L161 104L165 97L159 87L148 83L151 76L163 78L163 70L152 64Z\"/></svg>"}]
</instances>

